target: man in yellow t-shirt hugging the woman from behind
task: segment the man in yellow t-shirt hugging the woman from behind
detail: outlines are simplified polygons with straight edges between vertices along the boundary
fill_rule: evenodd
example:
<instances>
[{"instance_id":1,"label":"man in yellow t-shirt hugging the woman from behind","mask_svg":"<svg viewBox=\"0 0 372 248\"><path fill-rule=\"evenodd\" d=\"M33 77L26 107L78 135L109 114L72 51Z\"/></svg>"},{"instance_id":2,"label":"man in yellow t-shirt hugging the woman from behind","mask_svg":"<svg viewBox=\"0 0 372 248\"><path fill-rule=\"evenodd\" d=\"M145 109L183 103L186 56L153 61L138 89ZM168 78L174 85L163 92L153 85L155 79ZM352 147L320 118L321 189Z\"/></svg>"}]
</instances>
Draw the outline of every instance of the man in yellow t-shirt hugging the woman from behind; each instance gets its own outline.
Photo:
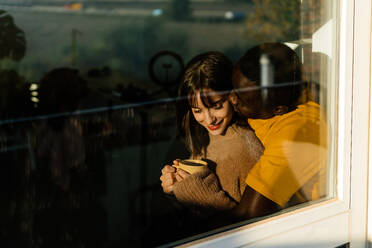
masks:
<instances>
[{"instance_id":1,"label":"man in yellow t-shirt hugging the woman from behind","mask_svg":"<svg viewBox=\"0 0 372 248\"><path fill-rule=\"evenodd\" d=\"M230 100L265 147L233 213L253 218L325 194L326 124L307 99L301 63L281 43L253 47L233 72Z\"/></svg>"}]
</instances>

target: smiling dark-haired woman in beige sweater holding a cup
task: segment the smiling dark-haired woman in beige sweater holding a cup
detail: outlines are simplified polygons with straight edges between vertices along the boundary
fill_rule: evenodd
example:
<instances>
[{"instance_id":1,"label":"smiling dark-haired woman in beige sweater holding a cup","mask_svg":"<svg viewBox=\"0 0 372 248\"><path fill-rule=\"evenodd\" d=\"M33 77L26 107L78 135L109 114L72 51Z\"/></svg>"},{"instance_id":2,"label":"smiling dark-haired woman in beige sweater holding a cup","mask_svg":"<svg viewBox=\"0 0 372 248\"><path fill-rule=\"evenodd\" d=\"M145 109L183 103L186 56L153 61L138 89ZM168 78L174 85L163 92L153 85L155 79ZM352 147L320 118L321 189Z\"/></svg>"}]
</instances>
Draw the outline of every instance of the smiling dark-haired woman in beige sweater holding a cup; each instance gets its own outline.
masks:
<instances>
[{"instance_id":1,"label":"smiling dark-haired woman in beige sweater holding a cup","mask_svg":"<svg viewBox=\"0 0 372 248\"><path fill-rule=\"evenodd\" d=\"M263 152L247 121L239 119L228 100L232 69L222 53L200 54L186 66L179 88L179 131L191 158L207 160L209 169L190 175L166 165L160 179L165 193L200 210L233 208L245 190L249 169Z\"/></svg>"}]
</instances>

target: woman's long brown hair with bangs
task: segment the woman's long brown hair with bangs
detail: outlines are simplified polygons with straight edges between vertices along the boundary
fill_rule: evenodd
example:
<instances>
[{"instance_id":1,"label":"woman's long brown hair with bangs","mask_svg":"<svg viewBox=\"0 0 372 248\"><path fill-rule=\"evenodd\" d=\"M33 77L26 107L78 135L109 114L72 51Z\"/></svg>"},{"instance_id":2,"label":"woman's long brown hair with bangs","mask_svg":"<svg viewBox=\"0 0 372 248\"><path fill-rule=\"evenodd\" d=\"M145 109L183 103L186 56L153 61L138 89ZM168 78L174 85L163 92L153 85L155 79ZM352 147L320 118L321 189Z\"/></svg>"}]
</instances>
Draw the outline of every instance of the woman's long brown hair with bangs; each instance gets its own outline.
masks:
<instances>
[{"instance_id":1,"label":"woman's long brown hair with bangs","mask_svg":"<svg viewBox=\"0 0 372 248\"><path fill-rule=\"evenodd\" d=\"M233 64L221 52L212 51L197 55L186 65L178 90L177 126L192 156L205 154L209 144L208 131L191 112L195 95L200 92L202 103L212 107L208 90L213 90L227 100L232 90Z\"/></svg>"}]
</instances>

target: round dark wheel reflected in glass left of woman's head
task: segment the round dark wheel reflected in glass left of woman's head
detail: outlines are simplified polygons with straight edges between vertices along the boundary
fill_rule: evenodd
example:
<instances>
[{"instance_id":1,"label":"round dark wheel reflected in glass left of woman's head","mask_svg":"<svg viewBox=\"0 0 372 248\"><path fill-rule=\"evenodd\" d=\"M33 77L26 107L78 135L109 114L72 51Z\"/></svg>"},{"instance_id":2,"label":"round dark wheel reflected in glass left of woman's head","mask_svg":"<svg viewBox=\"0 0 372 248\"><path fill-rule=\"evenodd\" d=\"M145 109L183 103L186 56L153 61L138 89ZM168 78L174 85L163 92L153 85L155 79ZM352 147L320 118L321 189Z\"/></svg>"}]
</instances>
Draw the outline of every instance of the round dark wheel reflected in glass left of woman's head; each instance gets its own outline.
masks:
<instances>
[{"instance_id":1,"label":"round dark wheel reflected in glass left of woman's head","mask_svg":"<svg viewBox=\"0 0 372 248\"><path fill-rule=\"evenodd\" d=\"M163 87L170 87L178 85L183 67L183 60L178 54L171 51L160 51L150 60L149 74L155 83Z\"/></svg>"}]
</instances>

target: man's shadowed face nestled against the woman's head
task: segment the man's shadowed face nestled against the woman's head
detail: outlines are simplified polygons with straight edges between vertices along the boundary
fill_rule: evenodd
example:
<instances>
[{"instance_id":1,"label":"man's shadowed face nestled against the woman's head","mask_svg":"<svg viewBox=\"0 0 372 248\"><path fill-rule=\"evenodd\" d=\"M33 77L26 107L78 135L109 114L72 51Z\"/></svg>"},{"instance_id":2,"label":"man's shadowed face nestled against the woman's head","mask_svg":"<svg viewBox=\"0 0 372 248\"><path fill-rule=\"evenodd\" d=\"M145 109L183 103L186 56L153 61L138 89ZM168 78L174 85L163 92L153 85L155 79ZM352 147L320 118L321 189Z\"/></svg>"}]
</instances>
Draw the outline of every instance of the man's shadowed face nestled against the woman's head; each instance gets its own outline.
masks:
<instances>
[{"instance_id":1,"label":"man's shadowed face nestled against the woman's head","mask_svg":"<svg viewBox=\"0 0 372 248\"><path fill-rule=\"evenodd\" d=\"M235 110L246 118L259 118L263 111L261 90L255 82L250 81L235 66L232 83L234 86L233 95L230 99Z\"/></svg>"}]
</instances>

